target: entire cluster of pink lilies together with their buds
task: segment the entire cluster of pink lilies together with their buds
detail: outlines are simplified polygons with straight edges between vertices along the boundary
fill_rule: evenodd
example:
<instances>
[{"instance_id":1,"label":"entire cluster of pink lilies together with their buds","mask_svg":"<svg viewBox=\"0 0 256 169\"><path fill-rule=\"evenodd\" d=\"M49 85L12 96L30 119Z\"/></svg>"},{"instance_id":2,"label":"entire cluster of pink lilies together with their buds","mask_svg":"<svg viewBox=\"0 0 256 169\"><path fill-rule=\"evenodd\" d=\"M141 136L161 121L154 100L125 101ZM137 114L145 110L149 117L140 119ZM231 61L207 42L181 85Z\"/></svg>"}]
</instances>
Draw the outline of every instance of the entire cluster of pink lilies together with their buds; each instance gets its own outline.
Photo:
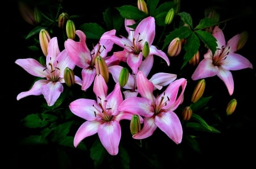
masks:
<instances>
[{"instance_id":1,"label":"entire cluster of pink lilies together with their buds","mask_svg":"<svg viewBox=\"0 0 256 169\"><path fill-rule=\"evenodd\" d=\"M175 6L166 12L166 25L171 24L177 16L179 2L174 1ZM181 143L182 121L189 121L192 116L203 121L194 113L195 106L183 104L184 99L187 99L185 97L189 96L185 95L188 81L198 81L191 95L191 103L196 104L202 99L205 78L213 76L224 82L227 94L231 96L234 91L231 71L253 69L247 58L236 53L245 45L247 33L239 33L226 43L224 32L217 24L208 26L204 29L205 33L212 35L216 44L205 45L207 52L203 57L199 49L195 48L191 56L185 58L185 64L196 67L191 79L178 78L179 75L168 72L150 75L155 61L160 60L159 65L172 66L171 58L181 57L181 49L188 43L189 35L183 37L183 33L167 38L165 43L168 44L168 50L165 52L164 48L161 50L154 45L156 19L148 16L144 0L138 0L138 10L147 16L141 20L125 18L127 36L118 36L117 31L111 29L101 35L92 49L88 48L84 31L76 29L75 23L67 19L65 14L61 14L58 20L60 27L66 26L68 37L63 50L59 48L57 37L51 37L47 29L40 29L40 48L46 61L35 58L15 61L15 64L39 78L30 90L20 92L16 99L43 95L48 107L54 107L67 86L70 90L73 85L79 84L81 92L85 93L93 90L94 96L79 98L69 104L70 111L85 120L73 139L75 147L86 137L97 133L108 153L117 155L121 120L130 120L130 132L136 140L150 137L156 129L160 129L176 144ZM207 17L215 19L214 23L217 23L213 11ZM184 23L179 29L189 32L192 27ZM199 31L197 33L200 35ZM115 47L121 50L114 50ZM75 67L81 69L81 74L75 73ZM226 114L231 115L236 105L236 99L230 100ZM180 114L176 112L177 108L182 109Z\"/></svg>"}]
</instances>

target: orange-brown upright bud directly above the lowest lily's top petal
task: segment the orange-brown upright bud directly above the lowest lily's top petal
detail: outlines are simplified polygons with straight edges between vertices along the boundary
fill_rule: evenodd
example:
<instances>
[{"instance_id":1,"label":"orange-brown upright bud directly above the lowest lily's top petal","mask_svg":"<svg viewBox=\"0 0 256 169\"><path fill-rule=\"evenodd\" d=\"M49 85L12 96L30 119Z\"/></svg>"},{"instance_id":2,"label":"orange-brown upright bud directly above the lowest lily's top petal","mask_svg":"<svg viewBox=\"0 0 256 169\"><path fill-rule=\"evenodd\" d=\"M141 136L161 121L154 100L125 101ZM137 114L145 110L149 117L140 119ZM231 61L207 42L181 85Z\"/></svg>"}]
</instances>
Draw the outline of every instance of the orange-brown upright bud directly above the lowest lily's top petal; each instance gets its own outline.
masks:
<instances>
[{"instance_id":1,"label":"orange-brown upright bud directly above the lowest lily's top petal","mask_svg":"<svg viewBox=\"0 0 256 169\"><path fill-rule=\"evenodd\" d=\"M96 68L96 74L101 74L104 78L105 82L109 82L109 70L108 66L106 65L106 62L104 58L101 56L97 56L95 58L95 68Z\"/></svg>"}]
</instances>

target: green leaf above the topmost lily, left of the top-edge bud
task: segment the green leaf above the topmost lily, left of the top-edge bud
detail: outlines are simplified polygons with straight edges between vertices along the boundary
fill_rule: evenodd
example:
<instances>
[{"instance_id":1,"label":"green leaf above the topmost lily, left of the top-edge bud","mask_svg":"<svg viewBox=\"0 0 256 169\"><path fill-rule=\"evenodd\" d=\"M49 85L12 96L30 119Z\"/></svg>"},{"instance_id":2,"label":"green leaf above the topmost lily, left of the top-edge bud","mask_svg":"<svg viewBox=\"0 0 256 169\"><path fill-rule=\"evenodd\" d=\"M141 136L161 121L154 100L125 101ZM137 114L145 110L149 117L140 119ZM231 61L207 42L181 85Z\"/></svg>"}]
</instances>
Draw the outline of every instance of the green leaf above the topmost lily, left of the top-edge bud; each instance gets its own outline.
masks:
<instances>
[{"instance_id":1,"label":"green leaf above the topmost lily, left of the top-edge bud","mask_svg":"<svg viewBox=\"0 0 256 169\"><path fill-rule=\"evenodd\" d=\"M117 7L117 10L120 12L120 15L125 19L144 19L147 17L147 14L143 11L140 11L138 7L131 5L124 5L121 7Z\"/></svg>"}]
</instances>

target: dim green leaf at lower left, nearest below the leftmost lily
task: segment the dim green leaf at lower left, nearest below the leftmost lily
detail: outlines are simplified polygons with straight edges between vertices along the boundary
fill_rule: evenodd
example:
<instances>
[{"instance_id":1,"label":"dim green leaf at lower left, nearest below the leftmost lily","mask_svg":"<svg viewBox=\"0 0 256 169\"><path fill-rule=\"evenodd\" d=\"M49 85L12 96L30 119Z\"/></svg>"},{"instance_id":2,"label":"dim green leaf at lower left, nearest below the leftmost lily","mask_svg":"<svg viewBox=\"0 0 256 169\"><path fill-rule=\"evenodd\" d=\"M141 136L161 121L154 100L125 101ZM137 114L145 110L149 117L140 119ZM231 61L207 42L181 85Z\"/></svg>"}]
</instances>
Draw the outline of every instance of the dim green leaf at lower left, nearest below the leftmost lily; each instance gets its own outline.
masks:
<instances>
[{"instance_id":1,"label":"dim green leaf at lower left, nearest below the leftmost lily","mask_svg":"<svg viewBox=\"0 0 256 169\"><path fill-rule=\"evenodd\" d=\"M22 123L28 128L43 128L44 126L47 126L49 123L56 120L57 117L50 114L31 114L27 115L22 120Z\"/></svg>"}]
</instances>

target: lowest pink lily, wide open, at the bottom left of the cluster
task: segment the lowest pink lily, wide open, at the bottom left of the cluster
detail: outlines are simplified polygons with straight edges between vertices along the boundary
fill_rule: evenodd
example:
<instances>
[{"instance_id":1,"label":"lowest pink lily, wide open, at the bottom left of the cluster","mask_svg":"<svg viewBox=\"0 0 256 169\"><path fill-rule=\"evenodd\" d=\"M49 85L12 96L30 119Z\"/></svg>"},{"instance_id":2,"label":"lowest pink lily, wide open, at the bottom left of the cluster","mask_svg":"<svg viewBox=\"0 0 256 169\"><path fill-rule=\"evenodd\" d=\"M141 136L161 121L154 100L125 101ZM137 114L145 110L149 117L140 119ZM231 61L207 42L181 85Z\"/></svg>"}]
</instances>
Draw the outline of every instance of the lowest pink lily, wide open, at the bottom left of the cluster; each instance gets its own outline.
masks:
<instances>
[{"instance_id":1,"label":"lowest pink lily, wide open, at the bottom left of the cluster","mask_svg":"<svg viewBox=\"0 0 256 169\"><path fill-rule=\"evenodd\" d=\"M74 146L77 147L84 138L98 133L108 153L117 155L121 140L119 121L131 120L133 115L118 111L118 106L123 101L119 83L116 83L114 90L107 95L108 86L104 78L102 75L96 75L93 91L97 96L97 102L92 99L77 99L69 104L72 113L86 120L75 134Z\"/></svg>"}]
</instances>

